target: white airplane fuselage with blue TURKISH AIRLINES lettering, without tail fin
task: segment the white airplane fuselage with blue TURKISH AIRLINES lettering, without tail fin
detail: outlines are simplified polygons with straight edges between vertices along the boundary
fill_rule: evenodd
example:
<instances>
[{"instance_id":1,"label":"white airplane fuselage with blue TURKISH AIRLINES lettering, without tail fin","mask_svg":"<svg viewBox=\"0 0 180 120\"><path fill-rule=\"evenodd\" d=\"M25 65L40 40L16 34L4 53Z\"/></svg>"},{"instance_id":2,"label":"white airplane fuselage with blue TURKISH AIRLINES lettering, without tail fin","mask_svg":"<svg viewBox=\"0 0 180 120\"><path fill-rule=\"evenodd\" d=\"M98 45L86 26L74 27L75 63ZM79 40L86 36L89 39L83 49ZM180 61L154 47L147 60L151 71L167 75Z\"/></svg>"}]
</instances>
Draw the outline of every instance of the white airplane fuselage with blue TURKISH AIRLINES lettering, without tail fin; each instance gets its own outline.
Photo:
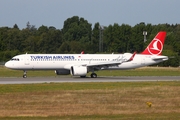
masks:
<instances>
[{"instance_id":1,"label":"white airplane fuselage with blue TURKISH AIRLINES lettering, without tail fin","mask_svg":"<svg viewBox=\"0 0 180 120\"><path fill-rule=\"evenodd\" d=\"M5 66L16 70L70 70L73 65L98 64L102 62L118 61L123 54L22 54L13 57ZM135 55L130 62L103 67L103 69L134 69L157 64L168 59L167 56ZM156 59L154 59L156 58ZM101 68L102 69L102 68Z\"/></svg>"}]
</instances>

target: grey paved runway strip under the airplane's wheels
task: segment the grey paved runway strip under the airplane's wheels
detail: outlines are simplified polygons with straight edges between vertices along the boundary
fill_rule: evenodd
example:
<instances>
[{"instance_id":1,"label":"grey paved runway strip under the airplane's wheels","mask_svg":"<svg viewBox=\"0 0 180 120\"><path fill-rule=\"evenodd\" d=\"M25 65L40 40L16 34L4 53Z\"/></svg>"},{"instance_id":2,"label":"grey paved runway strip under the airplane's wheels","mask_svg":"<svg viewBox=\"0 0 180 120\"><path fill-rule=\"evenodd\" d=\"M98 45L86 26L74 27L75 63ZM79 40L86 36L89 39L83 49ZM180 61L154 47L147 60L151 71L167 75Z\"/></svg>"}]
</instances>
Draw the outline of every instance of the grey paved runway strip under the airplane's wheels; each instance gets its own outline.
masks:
<instances>
[{"instance_id":1,"label":"grey paved runway strip under the airplane's wheels","mask_svg":"<svg viewBox=\"0 0 180 120\"><path fill-rule=\"evenodd\" d=\"M63 83L63 82L139 82L139 81L180 81L180 76L120 76L120 77L28 77L0 78L0 84L33 84L33 83Z\"/></svg>"}]
</instances>

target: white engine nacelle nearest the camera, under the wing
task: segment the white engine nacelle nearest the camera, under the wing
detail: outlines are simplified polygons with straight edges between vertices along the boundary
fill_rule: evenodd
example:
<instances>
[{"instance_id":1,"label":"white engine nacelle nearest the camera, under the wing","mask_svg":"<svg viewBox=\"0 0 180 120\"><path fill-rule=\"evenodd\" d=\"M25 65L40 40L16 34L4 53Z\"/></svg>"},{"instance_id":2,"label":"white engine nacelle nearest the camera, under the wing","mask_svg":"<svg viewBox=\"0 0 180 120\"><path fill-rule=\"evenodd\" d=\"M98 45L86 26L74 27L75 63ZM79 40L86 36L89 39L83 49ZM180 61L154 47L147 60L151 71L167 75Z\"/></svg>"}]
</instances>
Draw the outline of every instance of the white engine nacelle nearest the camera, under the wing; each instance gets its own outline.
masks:
<instances>
[{"instance_id":1,"label":"white engine nacelle nearest the camera, under the wing","mask_svg":"<svg viewBox=\"0 0 180 120\"><path fill-rule=\"evenodd\" d=\"M86 66L72 66L71 74L74 76L86 76L87 67Z\"/></svg>"}]
</instances>

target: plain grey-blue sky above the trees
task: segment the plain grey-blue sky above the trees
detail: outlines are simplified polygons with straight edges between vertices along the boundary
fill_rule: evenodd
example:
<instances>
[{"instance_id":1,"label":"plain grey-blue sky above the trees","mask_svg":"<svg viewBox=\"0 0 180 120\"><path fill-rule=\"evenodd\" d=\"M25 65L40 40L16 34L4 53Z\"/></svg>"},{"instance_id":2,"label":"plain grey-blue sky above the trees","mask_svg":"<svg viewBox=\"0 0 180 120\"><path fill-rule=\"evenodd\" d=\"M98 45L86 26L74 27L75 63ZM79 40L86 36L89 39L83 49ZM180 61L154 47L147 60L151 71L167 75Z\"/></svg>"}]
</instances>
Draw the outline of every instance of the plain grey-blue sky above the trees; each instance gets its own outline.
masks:
<instances>
[{"instance_id":1,"label":"plain grey-blue sky above the trees","mask_svg":"<svg viewBox=\"0 0 180 120\"><path fill-rule=\"evenodd\" d=\"M102 26L180 24L180 0L0 0L0 27L30 25L62 29L64 21L79 16Z\"/></svg>"}]
</instances>

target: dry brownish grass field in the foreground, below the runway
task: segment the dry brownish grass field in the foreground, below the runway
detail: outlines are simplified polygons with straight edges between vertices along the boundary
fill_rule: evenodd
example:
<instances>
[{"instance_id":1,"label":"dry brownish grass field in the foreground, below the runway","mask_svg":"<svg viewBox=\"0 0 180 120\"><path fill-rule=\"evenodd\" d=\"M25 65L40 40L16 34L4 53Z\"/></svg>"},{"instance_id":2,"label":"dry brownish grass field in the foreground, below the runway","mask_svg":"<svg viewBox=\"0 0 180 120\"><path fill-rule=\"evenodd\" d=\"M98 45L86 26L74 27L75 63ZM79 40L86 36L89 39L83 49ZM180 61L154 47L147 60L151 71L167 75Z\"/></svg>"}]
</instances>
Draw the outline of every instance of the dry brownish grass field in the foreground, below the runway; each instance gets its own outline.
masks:
<instances>
[{"instance_id":1,"label":"dry brownish grass field in the foreground, below the runway","mask_svg":"<svg viewBox=\"0 0 180 120\"><path fill-rule=\"evenodd\" d=\"M179 93L178 81L0 85L0 119L177 120Z\"/></svg>"}]
</instances>

